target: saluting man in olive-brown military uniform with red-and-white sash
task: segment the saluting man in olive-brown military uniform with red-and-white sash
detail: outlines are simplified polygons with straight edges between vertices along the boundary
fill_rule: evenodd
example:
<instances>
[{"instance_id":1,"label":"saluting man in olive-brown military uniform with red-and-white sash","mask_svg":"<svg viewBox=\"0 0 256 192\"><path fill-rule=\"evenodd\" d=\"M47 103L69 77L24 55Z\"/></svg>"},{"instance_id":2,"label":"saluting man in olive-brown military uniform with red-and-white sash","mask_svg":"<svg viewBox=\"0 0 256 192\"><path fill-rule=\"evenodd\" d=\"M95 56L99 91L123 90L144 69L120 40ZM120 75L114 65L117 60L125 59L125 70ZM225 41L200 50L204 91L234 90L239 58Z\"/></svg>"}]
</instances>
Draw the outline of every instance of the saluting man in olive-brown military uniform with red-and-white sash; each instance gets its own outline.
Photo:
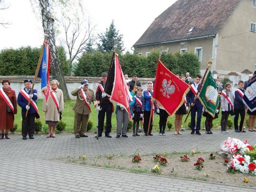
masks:
<instances>
[{"instance_id":1,"label":"saluting man in olive-brown military uniform with red-and-white sash","mask_svg":"<svg viewBox=\"0 0 256 192\"><path fill-rule=\"evenodd\" d=\"M73 107L74 110L74 135L75 138L88 137L85 135L87 129L87 123L91 116L91 102L94 103L94 107L98 107L95 100L93 90L88 88L88 81L83 80L81 85L71 92L73 96L76 96L76 103Z\"/></svg>"}]
</instances>

